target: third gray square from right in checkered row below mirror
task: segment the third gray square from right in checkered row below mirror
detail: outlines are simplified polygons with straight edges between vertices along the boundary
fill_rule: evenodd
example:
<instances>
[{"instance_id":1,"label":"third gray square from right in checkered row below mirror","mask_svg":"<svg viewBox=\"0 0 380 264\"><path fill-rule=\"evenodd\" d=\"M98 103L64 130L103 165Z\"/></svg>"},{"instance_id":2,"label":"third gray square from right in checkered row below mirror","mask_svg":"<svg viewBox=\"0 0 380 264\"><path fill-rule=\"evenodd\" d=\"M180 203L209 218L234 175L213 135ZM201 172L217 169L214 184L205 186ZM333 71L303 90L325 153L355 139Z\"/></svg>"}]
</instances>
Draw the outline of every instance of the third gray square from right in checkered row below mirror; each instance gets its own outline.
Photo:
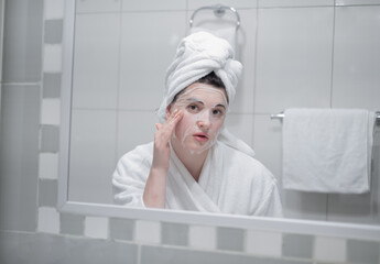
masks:
<instances>
[{"instance_id":1,"label":"third gray square from right in checkered row below mirror","mask_svg":"<svg viewBox=\"0 0 380 264\"><path fill-rule=\"evenodd\" d=\"M218 249L230 251L243 251L243 235L245 232L241 229L218 228Z\"/></svg>"}]
</instances>

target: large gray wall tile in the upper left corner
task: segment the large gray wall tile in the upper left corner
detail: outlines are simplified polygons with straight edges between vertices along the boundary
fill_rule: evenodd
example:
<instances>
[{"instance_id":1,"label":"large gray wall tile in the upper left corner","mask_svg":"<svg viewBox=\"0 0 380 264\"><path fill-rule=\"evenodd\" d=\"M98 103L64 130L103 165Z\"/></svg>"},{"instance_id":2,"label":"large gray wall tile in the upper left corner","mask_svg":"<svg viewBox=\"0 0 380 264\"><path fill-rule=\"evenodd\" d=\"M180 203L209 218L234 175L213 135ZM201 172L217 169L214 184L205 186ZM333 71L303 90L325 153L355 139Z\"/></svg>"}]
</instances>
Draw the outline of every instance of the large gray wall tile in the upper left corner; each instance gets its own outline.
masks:
<instances>
[{"instance_id":1,"label":"large gray wall tile in the upper left corner","mask_svg":"<svg viewBox=\"0 0 380 264\"><path fill-rule=\"evenodd\" d=\"M3 35L3 81L41 80L43 0L7 1Z\"/></svg>"}]
</instances>

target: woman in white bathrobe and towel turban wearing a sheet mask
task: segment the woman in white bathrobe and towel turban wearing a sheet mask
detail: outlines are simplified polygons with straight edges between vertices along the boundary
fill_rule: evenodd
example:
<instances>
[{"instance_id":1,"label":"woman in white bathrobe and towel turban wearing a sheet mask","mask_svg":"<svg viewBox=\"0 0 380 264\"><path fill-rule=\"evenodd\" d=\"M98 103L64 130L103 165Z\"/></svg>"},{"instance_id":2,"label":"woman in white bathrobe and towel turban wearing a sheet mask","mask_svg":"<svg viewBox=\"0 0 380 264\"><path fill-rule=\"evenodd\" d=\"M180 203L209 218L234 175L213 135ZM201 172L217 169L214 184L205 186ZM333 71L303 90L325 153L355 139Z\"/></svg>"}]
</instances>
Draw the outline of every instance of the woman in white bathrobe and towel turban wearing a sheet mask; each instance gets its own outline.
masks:
<instances>
[{"instance_id":1,"label":"woman in white bathrobe and towel turban wearing a sheet mask","mask_svg":"<svg viewBox=\"0 0 380 264\"><path fill-rule=\"evenodd\" d=\"M227 41L185 37L166 75L154 142L123 155L113 174L118 204L282 216L275 178L224 128L241 64Z\"/></svg>"}]
</instances>

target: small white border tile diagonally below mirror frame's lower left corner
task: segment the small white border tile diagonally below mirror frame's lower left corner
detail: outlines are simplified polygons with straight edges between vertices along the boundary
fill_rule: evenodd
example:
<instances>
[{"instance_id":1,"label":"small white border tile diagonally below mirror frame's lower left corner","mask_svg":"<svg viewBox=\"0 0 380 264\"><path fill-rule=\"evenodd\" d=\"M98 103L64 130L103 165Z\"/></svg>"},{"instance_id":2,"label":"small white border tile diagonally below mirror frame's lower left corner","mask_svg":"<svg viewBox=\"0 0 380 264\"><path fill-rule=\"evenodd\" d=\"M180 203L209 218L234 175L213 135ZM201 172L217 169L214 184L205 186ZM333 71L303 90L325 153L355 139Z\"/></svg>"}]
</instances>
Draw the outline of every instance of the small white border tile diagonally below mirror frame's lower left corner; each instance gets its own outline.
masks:
<instances>
[{"instance_id":1,"label":"small white border tile diagonally below mirror frame's lower left corner","mask_svg":"<svg viewBox=\"0 0 380 264\"><path fill-rule=\"evenodd\" d=\"M39 208L37 231L54 234L59 233L59 212L56 208Z\"/></svg>"}]
</instances>

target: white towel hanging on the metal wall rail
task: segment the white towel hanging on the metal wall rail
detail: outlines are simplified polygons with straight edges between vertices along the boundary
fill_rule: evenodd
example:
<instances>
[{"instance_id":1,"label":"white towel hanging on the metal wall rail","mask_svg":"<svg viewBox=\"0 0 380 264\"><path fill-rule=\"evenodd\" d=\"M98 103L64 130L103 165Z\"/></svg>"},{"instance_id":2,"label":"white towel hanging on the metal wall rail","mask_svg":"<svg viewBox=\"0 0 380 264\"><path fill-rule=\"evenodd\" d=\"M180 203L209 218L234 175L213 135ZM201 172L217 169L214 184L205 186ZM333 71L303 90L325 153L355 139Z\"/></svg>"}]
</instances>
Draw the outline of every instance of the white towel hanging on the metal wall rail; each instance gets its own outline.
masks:
<instances>
[{"instance_id":1,"label":"white towel hanging on the metal wall rail","mask_svg":"<svg viewBox=\"0 0 380 264\"><path fill-rule=\"evenodd\" d=\"M283 122L283 187L370 190L374 113L361 109L289 109Z\"/></svg>"}]
</instances>

